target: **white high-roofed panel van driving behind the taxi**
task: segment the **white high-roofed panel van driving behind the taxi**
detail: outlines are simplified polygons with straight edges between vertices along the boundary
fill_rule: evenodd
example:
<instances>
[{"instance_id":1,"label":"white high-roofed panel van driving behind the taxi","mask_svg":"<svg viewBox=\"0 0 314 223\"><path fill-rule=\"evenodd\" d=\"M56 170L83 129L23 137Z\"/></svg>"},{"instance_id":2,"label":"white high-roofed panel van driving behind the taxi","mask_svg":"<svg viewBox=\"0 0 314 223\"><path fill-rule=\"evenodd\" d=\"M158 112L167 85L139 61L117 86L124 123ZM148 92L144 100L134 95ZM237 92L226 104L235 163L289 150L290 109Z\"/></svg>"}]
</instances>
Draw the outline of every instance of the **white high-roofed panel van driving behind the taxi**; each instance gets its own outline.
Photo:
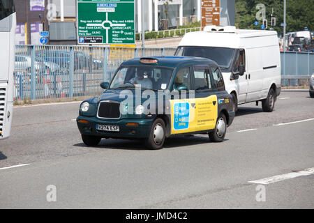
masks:
<instances>
[{"instance_id":1,"label":"white high-roofed panel van driving behind the taxi","mask_svg":"<svg viewBox=\"0 0 314 223\"><path fill-rule=\"evenodd\" d=\"M272 112L281 93L281 56L276 31L241 30L235 26L206 26L186 33L177 56L200 56L216 61L225 88L237 105L262 102Z\"/></svg>"}]
</instances>

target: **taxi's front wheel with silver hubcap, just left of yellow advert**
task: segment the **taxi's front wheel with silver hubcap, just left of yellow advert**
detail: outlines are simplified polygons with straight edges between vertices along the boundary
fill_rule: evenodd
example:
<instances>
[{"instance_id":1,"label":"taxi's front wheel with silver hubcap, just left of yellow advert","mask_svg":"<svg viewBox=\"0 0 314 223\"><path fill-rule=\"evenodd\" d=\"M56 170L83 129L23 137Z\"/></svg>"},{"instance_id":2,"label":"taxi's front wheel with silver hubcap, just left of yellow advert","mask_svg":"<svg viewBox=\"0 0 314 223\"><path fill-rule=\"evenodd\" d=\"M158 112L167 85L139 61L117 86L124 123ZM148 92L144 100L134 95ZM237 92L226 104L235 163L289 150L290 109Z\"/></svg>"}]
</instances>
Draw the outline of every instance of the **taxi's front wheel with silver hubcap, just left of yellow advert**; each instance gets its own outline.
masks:
<instances>
[{"instance_id":1,"label":"taxi's front wheel with silver hubcap, just left of yellow advert","mask_svg":"<svg viewBox=\"0 0 314 223\"><path fill-rule=\"evenodd\" d=\"M165 142L165 122L161 118L157 118L151 125L151 134L149 138L146 139L147 147L151 149L160 149L163 148Z\"/></svg>"}]
</instances>

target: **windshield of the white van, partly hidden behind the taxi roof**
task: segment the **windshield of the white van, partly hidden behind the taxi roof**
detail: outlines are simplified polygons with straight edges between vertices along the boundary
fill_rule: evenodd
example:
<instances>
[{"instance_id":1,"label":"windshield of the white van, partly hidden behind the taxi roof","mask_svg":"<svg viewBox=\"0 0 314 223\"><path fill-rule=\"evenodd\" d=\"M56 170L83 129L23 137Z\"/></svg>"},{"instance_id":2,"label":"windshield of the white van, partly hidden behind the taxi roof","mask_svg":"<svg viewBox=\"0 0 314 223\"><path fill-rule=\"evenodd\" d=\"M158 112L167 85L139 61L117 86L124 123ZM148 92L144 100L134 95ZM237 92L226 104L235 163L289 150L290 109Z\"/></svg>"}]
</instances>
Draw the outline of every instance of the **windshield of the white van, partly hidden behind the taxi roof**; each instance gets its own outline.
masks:
<instances>
[{"instance_id":1,"label":"windshield of the white van, partly hidden behind the taxi roof","mask_svg":"<svg viewBox=\"0 0 314 223\"><path fill-rule=\"evenodd\" d=\"M218 63L220 68L229 68L233 54L234 49L223 47L178 47L175 55L205 57Z\"/></svg>"}]
</instances>

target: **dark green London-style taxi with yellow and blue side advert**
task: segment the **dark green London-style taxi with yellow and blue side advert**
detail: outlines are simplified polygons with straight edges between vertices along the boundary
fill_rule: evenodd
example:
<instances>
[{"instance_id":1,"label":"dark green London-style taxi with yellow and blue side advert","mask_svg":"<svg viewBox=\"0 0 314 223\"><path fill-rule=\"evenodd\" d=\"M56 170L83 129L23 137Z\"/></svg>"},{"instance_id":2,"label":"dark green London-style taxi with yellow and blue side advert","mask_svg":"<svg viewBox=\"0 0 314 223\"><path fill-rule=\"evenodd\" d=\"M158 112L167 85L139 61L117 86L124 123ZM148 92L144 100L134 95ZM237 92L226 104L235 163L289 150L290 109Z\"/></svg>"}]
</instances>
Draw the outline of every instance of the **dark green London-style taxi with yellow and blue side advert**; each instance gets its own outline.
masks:
<instances>
[{"instance_id":1,"label":"dark green London-style taxi with yellow and blue side advert","mask_svg":"<svg viewBox=\"0 0 314 223\"><path fill-rule=\"evenodd\" d=\"M77 127L87 146L101 139L143 139L151 149L165 138L208 134L225 138L234 119L217 63L191 56L157 56L125 61L105 91L80 105Z\"/></svg>"}]
</instances>

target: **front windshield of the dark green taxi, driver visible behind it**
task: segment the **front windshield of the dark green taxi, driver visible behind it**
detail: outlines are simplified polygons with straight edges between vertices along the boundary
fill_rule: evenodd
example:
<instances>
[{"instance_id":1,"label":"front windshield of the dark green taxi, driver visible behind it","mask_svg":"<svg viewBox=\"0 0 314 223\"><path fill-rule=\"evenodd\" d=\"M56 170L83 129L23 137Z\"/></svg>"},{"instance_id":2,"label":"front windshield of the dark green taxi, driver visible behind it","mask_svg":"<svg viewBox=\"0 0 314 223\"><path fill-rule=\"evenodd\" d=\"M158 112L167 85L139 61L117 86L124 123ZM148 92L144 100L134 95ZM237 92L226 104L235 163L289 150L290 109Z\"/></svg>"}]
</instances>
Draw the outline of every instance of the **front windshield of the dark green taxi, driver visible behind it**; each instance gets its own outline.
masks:
<instances>
[{"instance_id":1,"label":"front windshield of the dark green taxi, driver visible behind it","mask_svg":"<svg viewBox=\"0 0 314 223\"><path fill-rule=\"evenodd\" d=\"M168 88L172 68L157 66L124 66L119 68L110 84L110 89L141 89L165 90Z\"/></svg>"}]
</instances>

